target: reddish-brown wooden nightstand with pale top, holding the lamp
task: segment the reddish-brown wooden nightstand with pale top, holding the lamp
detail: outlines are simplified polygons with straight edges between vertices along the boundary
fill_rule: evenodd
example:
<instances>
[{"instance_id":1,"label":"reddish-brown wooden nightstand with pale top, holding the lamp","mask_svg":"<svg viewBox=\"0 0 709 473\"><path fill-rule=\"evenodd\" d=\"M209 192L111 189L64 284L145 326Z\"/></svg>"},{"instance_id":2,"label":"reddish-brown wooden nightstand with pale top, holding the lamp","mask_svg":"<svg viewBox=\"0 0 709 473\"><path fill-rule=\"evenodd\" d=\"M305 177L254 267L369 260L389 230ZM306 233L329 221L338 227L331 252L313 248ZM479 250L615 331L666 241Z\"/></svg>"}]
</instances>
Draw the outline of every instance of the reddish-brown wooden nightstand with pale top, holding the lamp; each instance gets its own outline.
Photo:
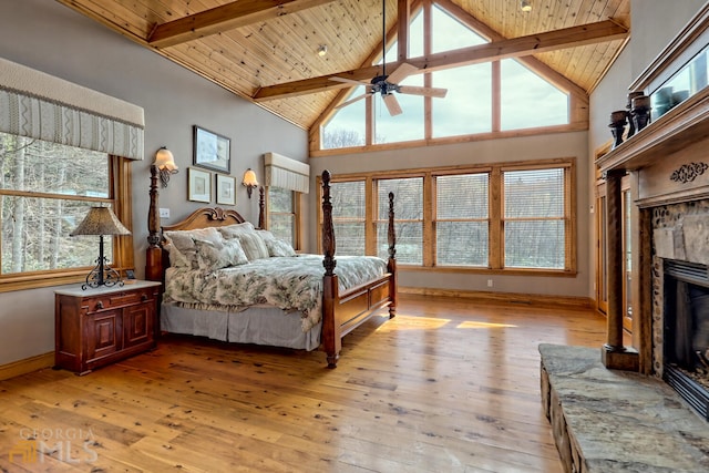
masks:
<instances>
[{"instance_id":1,"label":"reddish-brown wooden nightstand with pale top, holding the lamp","mask_svg":"<svg viewBox=\"0 0 709 473\"><path fill-rule=\"evenodd\" d=\"M79 374L155 348L160 282L54 291L55 368Z\"/></svg>"}]
</instances>

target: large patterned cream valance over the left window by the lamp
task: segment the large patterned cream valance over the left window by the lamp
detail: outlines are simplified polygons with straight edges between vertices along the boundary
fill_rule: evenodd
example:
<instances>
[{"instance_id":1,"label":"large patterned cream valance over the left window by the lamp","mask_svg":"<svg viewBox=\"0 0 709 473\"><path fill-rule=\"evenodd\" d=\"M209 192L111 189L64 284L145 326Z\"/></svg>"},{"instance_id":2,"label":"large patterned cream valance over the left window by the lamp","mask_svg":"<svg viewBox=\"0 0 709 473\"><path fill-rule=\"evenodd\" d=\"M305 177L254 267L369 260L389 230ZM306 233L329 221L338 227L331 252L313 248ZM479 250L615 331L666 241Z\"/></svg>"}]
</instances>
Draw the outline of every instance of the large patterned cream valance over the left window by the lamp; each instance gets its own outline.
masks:
<instances>
[{"instance_id":1,"label":"large patterned cream valance over the left window by the lamp","mask_svg":"<svg viewBox=\"0 0 709 473\"><path fill-rule=\"evenodd\" d=\"M0 132L143 160L143 109L0 58Z\"/></svg>"}]
</instances>

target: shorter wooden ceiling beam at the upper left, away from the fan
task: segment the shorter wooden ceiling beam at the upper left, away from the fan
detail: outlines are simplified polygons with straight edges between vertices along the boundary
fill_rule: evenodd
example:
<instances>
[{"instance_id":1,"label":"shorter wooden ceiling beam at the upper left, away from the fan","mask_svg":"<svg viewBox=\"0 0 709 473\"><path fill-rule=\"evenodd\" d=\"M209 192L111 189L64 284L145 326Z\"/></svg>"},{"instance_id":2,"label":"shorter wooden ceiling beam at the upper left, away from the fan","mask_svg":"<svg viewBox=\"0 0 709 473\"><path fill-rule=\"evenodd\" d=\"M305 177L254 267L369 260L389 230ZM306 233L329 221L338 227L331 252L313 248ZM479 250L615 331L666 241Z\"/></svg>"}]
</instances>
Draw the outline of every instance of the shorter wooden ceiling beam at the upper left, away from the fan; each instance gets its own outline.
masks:
<instances>
[{"instance_id":1,"label":"shorter wooden ceiling beam at the upper left, away from the fan","mask_svg":"<svg viewBox=\"0 0 709 473\"><path fill-rule=\"evenodd\" d=\"M172 47L331 1L335 0L238 0L156 24L147 43L155 48Z\"/></svg>"}]
</instances>

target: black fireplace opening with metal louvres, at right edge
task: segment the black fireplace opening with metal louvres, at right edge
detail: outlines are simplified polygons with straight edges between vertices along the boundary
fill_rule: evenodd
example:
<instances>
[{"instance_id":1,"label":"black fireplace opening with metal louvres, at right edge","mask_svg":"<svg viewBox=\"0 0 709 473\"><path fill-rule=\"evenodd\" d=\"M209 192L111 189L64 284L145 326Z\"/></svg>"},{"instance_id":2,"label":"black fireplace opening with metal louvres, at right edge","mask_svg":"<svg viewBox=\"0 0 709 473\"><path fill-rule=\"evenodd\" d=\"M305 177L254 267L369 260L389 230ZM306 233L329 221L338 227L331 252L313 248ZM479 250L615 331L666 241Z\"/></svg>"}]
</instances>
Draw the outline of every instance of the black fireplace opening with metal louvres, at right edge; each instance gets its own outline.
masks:
<instances>
[{"instance_id":1,"label":"black fireplace opening with metal louvres, at right edge","mask_svg":"<svg viewBox=\"0 0 709 473\"><path fill-rule=\"evenodd\" d=\"M664 378L709 420L709 269L665 260Z\"/></svg>"}]
</instances>

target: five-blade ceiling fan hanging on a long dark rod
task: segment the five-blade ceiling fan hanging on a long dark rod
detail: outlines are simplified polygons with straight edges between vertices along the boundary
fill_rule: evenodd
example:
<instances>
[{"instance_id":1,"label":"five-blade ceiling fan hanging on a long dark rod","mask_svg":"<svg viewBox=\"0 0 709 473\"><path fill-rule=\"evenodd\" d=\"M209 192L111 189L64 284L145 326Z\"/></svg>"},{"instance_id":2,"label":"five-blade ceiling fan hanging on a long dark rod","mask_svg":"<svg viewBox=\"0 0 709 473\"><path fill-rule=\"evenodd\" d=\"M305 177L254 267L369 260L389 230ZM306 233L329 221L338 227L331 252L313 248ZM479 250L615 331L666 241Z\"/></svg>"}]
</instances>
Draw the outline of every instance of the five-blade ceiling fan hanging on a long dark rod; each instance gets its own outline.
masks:
<instances>
[{"instance_id":1,"label":"five-blade ceiling fan hanging on a long dark rod","mask_svg":"<svg viewBox=\"0 0 709 473\"><path fill-rule=\"evenodd\" d=\"M401 105L399 105L399 101L397 96L393 94L394 92L402 94L411 94L411 95L423 95L423 96L433 96L433 97L444 97L448 93L448 89L440 88L427 88L427 86L418 86L418 85L399 85L401 81L407 79L409 75L419 71L419 68L415 65L409 64L407 62L402 62L391 74L387 75L387 0L382 0L382 54L381 54L381 75L377 75L370 82L366 81L354 81L352 79L347 78L330 78L331 81L337 82L347 82L352 83L354 85L366 85L367 92L352 97L346 102L339 104L336 109L341 109L351 103L360 101L369 95L381 94L381 99L389 111L391 116L400 115L402 113Z\"/></svg>"}]
</instances>

